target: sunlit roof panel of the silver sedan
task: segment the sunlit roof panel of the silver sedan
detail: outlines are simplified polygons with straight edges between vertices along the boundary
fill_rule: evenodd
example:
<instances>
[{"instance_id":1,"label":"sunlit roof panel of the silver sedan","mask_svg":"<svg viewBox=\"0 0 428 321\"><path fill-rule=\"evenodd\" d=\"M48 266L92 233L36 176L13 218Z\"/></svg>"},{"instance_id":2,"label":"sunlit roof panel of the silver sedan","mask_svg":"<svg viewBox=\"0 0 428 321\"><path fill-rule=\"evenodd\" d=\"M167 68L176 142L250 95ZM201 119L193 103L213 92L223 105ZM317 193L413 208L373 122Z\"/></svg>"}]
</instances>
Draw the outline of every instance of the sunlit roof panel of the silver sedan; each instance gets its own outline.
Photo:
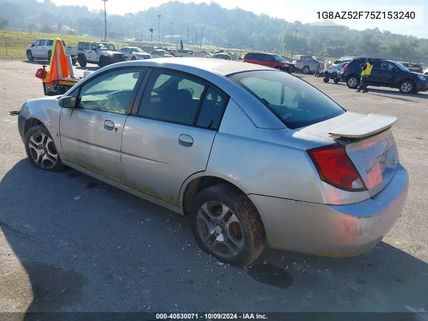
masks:
<instances>
[{"instance_id":1,"label":"sunlit roof panel of the silver sedan","mask_svg":"<svg viewBox=\"0 0 428 321\"><path fill-rule=\"evenodd\" d=\"M136 61L126 61L115 63L114 65L140 65L147 67L164 67L171 69L187 69L192 73L192 69L205 70L212 74L219 74L221 76L228 76L242 72L250 72L252 70L273 70L272 68L265 67L253 63L245 63L242 61L232 60L219 60L219 59L205 59L196 57L180 57L180 58L164 58L164 59L146 59ZM112 65L113 66L113 65Z\"/></svg>"}]
</instances>

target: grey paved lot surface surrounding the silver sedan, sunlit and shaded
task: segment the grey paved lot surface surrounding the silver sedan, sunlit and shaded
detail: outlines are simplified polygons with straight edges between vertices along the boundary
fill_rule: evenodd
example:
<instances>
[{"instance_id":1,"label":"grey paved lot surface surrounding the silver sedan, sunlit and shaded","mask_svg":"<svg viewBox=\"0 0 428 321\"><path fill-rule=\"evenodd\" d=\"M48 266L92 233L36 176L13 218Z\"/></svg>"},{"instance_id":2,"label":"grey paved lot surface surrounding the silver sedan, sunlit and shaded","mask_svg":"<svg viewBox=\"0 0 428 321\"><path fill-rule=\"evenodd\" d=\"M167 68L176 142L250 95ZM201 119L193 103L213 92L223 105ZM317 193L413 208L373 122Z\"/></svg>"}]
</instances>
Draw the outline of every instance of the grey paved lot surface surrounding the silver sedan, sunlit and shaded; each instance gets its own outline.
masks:
<instances>
[{"instance_id":1,"label":"grey paved lot surface surrounding the silver sedan, sunlit and shaded","mask_svg":"<svg viewBox=\"0 0 428 321\"><path fill-rule=\"evenodd\" d=\"M266 248L257 264L239 269L201 252L186 217L71 169L31 166L9 111L44 97L34 77L41 64L0 65L0 311L428 310L428 93L369 87L363 94L297 75L349 111L398 117L407 204L361 256Z\"/></svg>"}]
</instances>

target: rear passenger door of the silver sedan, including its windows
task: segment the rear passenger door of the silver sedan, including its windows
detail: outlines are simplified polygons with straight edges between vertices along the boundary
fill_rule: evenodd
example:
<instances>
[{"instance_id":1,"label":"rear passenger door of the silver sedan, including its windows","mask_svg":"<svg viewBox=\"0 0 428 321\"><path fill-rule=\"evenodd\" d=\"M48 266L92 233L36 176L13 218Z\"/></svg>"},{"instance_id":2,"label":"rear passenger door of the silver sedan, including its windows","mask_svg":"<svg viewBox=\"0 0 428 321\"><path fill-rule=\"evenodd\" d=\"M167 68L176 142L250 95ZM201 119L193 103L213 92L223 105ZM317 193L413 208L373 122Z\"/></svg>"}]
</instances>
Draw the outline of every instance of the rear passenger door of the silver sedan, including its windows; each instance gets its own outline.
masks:
<instances>
[{"instance_id":1,"label":"rear passenger door of the silver sedan, including its windows","mask_svg":"<svg viewBox=\"0 0 428 321\"><path fill-rule=\"evenodd\" d=\"M168 69L152 70L139 96L122 139L124 182L179 207L184 181L206 169L227 96Z\"/></svg>"}]
</instances>

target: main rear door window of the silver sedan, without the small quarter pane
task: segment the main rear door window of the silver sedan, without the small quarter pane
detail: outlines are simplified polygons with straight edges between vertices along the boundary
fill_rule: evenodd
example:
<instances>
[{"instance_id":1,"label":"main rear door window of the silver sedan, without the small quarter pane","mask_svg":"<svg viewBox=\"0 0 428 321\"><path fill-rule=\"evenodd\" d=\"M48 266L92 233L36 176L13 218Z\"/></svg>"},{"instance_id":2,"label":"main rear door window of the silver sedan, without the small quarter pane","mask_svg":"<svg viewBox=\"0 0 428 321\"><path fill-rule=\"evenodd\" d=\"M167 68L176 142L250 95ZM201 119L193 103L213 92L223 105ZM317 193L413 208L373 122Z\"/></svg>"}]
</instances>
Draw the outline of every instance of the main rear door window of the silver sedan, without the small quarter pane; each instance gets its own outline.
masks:
<instances>
[{"instance_id":1,"label":"main rear door window of the silver sedan, without the small quarter pane","mask_svg":"<svg viewBox=\"0 0 428 321\"><path fill-rule=\"evenodd\" d=\"M193 125L204 89L203 81L190 75L154 70L146 85L138 114Z\"/></svg>"}]
</instances>

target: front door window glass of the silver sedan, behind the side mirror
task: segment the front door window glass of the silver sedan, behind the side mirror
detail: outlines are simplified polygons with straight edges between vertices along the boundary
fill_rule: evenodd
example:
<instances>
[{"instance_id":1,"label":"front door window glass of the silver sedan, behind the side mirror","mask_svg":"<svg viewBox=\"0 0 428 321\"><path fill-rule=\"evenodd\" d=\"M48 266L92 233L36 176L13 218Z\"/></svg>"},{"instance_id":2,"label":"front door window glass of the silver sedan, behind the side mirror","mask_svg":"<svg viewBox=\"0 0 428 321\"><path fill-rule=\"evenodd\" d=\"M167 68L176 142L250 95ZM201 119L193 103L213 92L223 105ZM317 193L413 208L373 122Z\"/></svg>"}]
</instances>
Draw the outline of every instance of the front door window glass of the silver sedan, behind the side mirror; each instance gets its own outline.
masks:
<instances>
[{"instance_id":1,"label":"front door window glass of the silver sedan, behind the side mirror","mask_svg":"<svg viewBox=\"0 0 428 321\"><path fill-rule=\"evenodd\" d=\"M125 114L142 69L113 70L82 86L79 106L84 109Z\"/></svg>"}]
</instances>

